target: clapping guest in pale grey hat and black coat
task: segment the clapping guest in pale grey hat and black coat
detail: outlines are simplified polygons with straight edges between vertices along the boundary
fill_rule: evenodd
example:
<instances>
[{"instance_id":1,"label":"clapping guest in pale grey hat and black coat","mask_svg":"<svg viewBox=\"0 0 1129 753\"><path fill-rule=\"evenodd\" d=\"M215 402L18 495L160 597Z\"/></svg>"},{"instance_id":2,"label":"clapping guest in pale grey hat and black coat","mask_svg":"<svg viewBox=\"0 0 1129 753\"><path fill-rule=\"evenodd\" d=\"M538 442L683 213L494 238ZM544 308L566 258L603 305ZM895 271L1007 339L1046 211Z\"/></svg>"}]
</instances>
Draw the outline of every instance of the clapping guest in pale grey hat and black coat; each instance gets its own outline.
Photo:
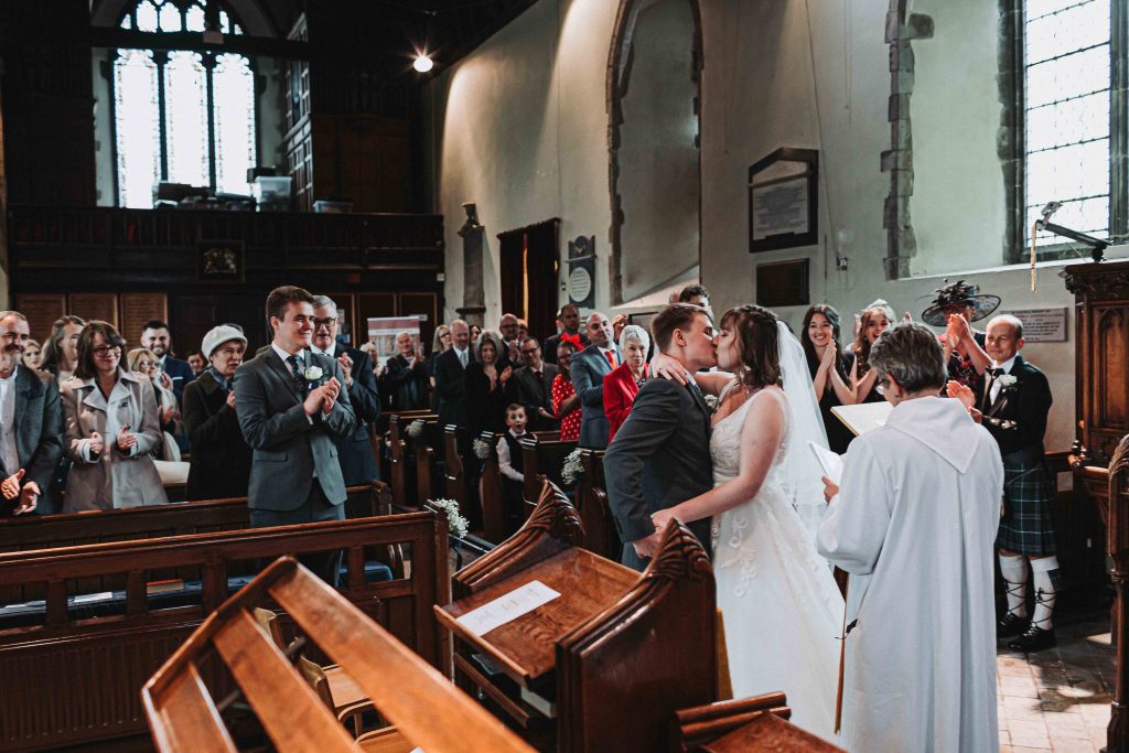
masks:
<instances>
[{"instance_id":1,"label":"clapping guest in pale grey hat and black coat","mask_svg":"<svg viewBox=\"0 0 1129 753\"><path fill-rule=\"evenodd\" d=\"M247 339L220 325L204 335L200 350L210 366L184 387L184 427L192 441L187 498L246 497L251 447L235 412L235 371Z\"/></svg>"}]
</instances>

